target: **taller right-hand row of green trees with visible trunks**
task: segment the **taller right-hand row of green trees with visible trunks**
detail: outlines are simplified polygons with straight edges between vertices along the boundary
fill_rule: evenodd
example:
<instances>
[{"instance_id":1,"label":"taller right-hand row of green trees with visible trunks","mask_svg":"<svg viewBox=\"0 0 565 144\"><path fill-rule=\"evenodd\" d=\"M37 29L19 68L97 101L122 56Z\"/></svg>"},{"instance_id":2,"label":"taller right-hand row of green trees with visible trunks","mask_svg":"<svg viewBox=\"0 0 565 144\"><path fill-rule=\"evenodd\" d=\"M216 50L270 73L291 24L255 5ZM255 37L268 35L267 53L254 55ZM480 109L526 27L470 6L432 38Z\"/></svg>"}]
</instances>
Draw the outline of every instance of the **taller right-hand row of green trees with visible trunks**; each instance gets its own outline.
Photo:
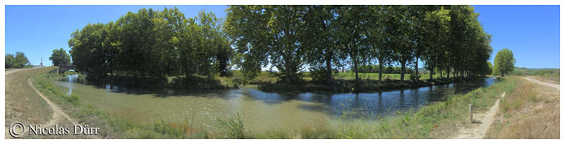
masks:
<instances>
[{"instance_id":1,"label":"taller right-hand row of green trees with visible trunks","mask_svg":"<svg viewBox=\"0 0 565 144\"><path fill-rule=\"evenodd\" d=\"M286 83L304 68L326 71L345 65L407 66L418 61L458 77L487 74L492 48L471 6L230 6L225 32L234 64L248 79L262 67L277 68ZM272 67L272 68L273 68ZM379 80L382 79L379 71ZM430 75L432 78L432 75Z\"/></svg>"}]
</instances>

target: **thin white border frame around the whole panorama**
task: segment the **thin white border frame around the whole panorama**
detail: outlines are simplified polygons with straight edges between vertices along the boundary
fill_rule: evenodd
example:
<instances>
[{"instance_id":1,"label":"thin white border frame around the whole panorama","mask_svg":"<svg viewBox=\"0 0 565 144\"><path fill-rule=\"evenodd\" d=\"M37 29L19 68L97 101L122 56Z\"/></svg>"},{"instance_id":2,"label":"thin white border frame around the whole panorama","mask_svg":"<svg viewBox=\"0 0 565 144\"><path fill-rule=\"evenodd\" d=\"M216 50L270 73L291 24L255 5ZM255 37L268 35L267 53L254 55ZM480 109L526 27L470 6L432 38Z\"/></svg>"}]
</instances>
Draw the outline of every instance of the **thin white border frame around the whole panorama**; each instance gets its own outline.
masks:
<instances>
[{"instance_id":1,"label":"thin white border frame around the whole panorama","mask_svg":"<svg viewBox=\"0 0 565 144\"><path fill-rule=\"evenodd\" d=\"M396 4L411 4L411 5L432 5L432 4L446 4L446 5L561 5L560 8L560 41L564 41L564 7L565 0L466 0L466 1L458 1L458 0L432 0L432 1L424 1L424 0L375 0L375 1L362 1L362 0L349 0L349 1L323 1L323 0L283 0L283 1L272 1L272 0L248 0L248 1L234 1L234 0L212 0L212 1L179 1L179 0L98 0L98 1L73 1L73 0L0 0L0 47L4 49L1 54L4 55L6 52L5 50L5 5L236 5L236 4L271 4L271 5L278 5L278 4L327 4L327 5L357 5L357 4L388 4L388 5L396 5ZM563 43L560 44L560 47L563 47ZM564 59L562 59L564 55L564 51L560 49L560 67L564 67ZM5 83L5 68L4 68L4 61L2 59L0 62L2 64L2 76L0 80L4 81ZM562 75L561 78L565 76ZM5 107L5 85L2 83L2 87L0 92L2 93L3 97L2 102L0 104L1 107ZM561 88L565 88L565 86L561 86ZM560 95L563 95L563 92L560 92ZM564 104L561 101L561 105ZM0 110L2 114L5 113L5 109ZM560 109L561 115L564 115L563 109ZM563 124L563 119L561 119L561 124ZM1 124L5 123L5 118L2 117ZM564 133L564 129L560 128L560 133ZM1 131L0 134L2 135L1 143L281 143L281 144L288 144L288 143L564 143L565 140L6 140L6 131ZM563 138L563 137L560 137ZM561 141L561 142L559 142Z\"/></svg>"}]
</instances>

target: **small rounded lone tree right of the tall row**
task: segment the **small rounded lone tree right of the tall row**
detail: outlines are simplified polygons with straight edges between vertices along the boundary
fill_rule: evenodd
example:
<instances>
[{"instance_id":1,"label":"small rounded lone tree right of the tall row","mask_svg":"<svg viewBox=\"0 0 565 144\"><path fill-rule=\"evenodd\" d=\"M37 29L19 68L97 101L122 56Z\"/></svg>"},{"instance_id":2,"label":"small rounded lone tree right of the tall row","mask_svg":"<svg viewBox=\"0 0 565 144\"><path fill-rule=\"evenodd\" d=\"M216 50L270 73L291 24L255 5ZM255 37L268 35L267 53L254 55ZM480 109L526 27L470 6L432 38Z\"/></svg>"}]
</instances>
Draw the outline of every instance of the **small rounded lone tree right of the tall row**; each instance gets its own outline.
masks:
<instances>
[{"instance_id":1,"label":"small rounded lone tree right of the tall row","mask_svg":"<svg viewBox=\"0 0 565 144\"><path fill-rule=\"evenodd\" d=\"M496 75L504 77L506 74L514 71L514 64L516 59L514 59L514 54L508 48L504 48L496 53L494 57L494 71Z\"/></svg>"}]
</instances>

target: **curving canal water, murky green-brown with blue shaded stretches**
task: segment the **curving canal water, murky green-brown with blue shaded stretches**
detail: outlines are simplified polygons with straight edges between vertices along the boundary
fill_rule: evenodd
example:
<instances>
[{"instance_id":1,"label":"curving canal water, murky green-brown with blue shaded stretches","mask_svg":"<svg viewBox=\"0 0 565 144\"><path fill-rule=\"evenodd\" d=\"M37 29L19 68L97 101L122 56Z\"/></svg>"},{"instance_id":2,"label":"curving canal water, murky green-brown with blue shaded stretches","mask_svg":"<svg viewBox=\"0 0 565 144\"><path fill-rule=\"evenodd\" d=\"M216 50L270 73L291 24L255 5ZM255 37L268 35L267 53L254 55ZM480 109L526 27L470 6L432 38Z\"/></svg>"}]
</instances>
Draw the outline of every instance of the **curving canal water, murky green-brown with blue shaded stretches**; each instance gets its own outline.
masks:
<instances>
[{"instance_id":1,"label":"curving canal water, murky green-brown with blue shaded stretches","mask_svg":"<svg viewBox=\"0 0 565 144\"><path fill-rule=\"evenodd\" d=\"M141 123L189 121L193 126L214 128L217 118L227 119L239 114L249 130L268 131L331 124L344 118L382 119L444 100L448 91L465 93L488 87L497 80L484 78L406 90L333 95L315 92L281 94L256 88L142 90L118 85L90 85L77 76L54 82L69 95L78 95L83 102Z\"/></svg>"}]
</instances>

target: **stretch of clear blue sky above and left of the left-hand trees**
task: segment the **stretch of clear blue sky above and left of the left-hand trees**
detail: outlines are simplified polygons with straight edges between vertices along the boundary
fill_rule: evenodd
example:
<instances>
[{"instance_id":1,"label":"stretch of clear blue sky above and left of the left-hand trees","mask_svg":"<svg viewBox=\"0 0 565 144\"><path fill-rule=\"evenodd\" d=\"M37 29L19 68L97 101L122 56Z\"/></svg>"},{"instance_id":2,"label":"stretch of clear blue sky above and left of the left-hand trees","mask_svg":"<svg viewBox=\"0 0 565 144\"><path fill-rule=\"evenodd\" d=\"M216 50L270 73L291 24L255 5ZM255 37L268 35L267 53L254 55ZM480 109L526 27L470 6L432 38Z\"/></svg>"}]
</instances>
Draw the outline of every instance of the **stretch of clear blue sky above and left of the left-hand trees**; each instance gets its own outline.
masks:
<instances>
[{"instance_id":1,"label":"stretch of clear blue sky above and left of the left-hand trees","mask_svg":"<svg viewBox=\"0 0 565 144\"><path fill-rule=\"evenodd\" d=\"M141 8L162 10L174 6L6 6L6 54L24 52L32 64L51 66L53 49L69 52L67 41L71 32L88 23L108 23L128 11ZM211 11L225 18L227 6L177 6L186 18L198 16L200 11Z\"/></svg>"}]
</instances>

